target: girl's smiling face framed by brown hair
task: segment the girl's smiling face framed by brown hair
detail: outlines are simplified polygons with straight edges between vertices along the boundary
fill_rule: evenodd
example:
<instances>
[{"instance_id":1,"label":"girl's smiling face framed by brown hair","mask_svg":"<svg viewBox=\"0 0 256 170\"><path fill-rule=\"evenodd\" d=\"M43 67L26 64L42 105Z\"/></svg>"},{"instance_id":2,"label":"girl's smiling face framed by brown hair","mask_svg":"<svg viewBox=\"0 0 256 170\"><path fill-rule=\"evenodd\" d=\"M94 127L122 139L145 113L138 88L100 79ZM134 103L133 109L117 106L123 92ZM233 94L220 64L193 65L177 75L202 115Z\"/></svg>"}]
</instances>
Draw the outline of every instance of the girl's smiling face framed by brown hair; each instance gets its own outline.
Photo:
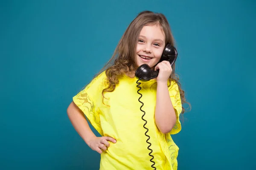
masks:
<instances>
[{"instance_id":1,"label":"girl's smiling face framed by brown hair","mask_svg":"<svg viewBox=\"0 0 256 170\"><path fill-rule=\"evenodd\" d=\"M151 68L159 62L165 47L165 36L160 26L144 26L136 48L137 66L148 64Z\"/></svg>"}]
</instances>

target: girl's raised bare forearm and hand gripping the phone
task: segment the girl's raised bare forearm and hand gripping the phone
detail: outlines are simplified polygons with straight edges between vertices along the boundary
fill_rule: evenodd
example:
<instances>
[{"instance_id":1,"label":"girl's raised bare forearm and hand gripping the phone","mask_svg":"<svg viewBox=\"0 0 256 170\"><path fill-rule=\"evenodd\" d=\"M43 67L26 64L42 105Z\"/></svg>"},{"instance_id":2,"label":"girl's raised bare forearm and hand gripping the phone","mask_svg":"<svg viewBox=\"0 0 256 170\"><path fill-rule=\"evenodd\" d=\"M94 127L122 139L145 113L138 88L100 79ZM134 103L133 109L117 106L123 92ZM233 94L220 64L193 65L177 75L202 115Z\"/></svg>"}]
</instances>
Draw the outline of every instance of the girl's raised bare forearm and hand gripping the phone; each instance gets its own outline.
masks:
<instances>
[{"instance_id":1,"label":"girl's raised bare forearm and hand gripping the phone","mask_svg":"<svg viewBox=\"0 0 256 170\"><path fill-rule=\"evenodd\" d=\"M157 77L157 101L155 121L162 133L169 133L176 123L176 114L169 95L167 81L172 73L170 62L160 62L155 70L159 69Z\"/></svg>"}]
</instances>

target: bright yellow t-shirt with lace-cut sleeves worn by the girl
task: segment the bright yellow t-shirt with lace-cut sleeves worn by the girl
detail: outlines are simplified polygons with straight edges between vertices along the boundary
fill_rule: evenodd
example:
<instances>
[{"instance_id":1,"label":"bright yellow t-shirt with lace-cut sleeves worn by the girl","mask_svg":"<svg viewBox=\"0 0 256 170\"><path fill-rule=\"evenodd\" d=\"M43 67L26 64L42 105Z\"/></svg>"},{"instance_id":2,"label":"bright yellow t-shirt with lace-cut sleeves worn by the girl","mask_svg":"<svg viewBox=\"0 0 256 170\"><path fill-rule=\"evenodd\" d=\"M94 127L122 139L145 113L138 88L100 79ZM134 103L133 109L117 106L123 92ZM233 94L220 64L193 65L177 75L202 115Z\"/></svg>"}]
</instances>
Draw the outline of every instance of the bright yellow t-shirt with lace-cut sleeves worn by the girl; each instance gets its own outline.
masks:
<instances>
[{"instance_id":1,"label":"bright yellow t-shirt with lace-cut sleeves worn by the girl","mask_svg":"<svg viewBox=\"0 0 256 170\"><path fill-rule=\"evenodd\" d=\"M74 103L87 116L89 122L102 135L116 139L116 143L110 142L110 147L101 154L100 170L152 170L148 155L148 139L145 136L143 125L143 112L140 111L141 103L138 101L140 94L136 78L122 76L119 84L113 92L105 93L102 102L102 90L106 88L105 71L93 79L90 84L73 97ZM141 81L140 81L141 82ZM173 142L171 134L181 130L179 115L182 111L180 93L177 83L172 81L169 86L169 94L172 105L175 108L176 124L172 131L163 134L155 124L154 111L156 105L156 80L141 82L139 91L143 94L140 101L144 103L143 117L147 120L148 142L157 170L177 170L177 155L179 148Z\"/></svg>"}]
</instances>

